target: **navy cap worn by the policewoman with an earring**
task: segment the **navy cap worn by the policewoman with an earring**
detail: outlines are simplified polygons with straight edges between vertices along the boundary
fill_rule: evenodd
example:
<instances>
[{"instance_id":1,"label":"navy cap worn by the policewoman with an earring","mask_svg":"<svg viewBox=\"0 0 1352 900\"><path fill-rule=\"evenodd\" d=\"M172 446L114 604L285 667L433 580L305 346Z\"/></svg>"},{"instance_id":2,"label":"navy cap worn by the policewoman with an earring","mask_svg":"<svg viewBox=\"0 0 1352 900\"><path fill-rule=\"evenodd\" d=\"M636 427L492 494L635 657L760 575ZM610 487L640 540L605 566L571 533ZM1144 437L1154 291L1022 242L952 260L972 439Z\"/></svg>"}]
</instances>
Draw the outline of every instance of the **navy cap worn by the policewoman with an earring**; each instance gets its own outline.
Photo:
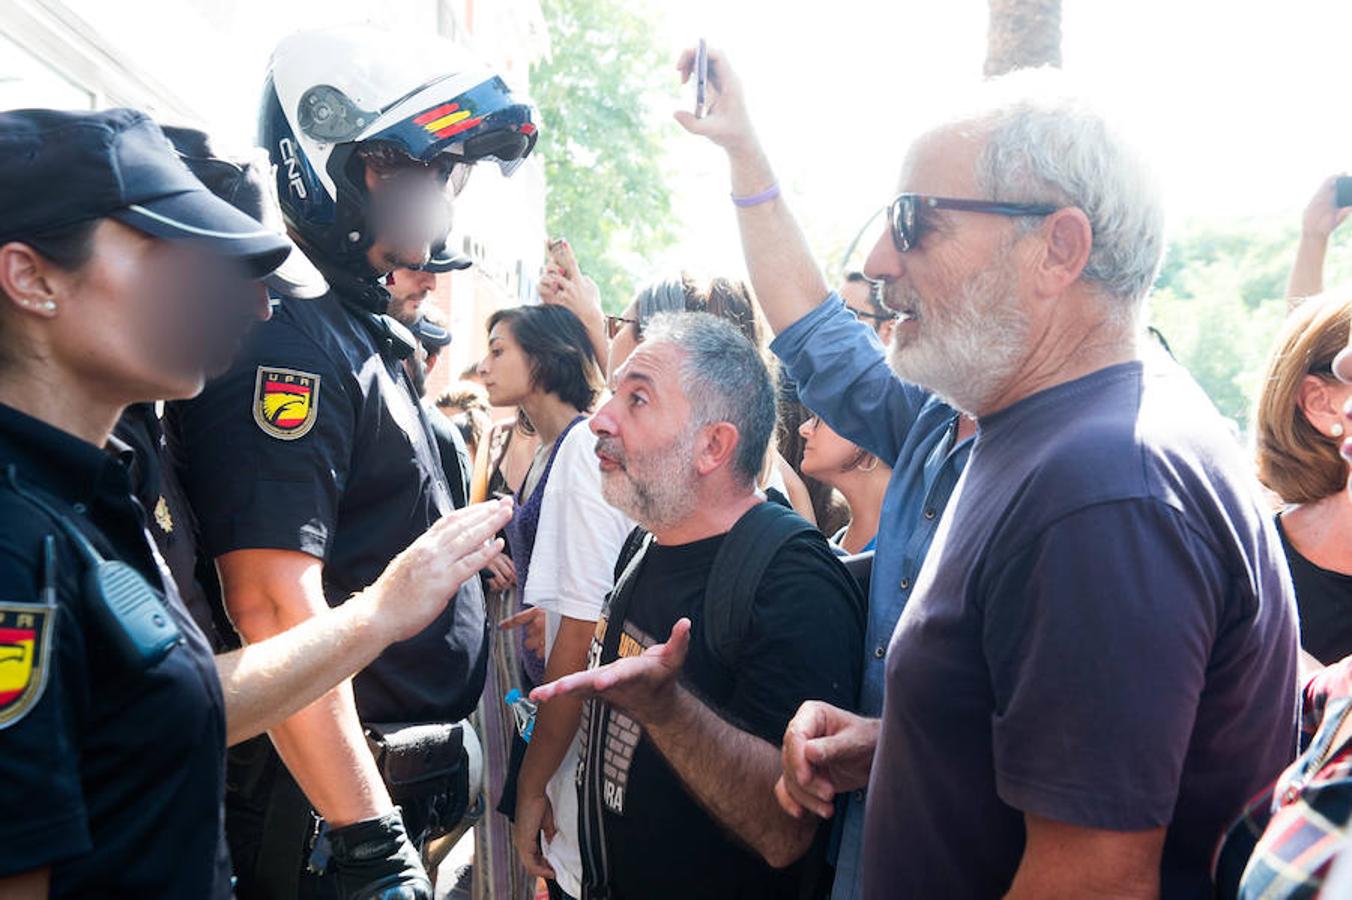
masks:
<instances>
[{"instance_id":1,"label":"navy cap worn by the policewoman with an earring","mask_svg":"<svg viewBox=\"0 0 1352 900\"><path fill-rule=\"evenodd\" d=\"M0 112L0 243L104 216L197 241L258 277L291 251L203 186L143 112Z\"/></svg>"}]
</instances>

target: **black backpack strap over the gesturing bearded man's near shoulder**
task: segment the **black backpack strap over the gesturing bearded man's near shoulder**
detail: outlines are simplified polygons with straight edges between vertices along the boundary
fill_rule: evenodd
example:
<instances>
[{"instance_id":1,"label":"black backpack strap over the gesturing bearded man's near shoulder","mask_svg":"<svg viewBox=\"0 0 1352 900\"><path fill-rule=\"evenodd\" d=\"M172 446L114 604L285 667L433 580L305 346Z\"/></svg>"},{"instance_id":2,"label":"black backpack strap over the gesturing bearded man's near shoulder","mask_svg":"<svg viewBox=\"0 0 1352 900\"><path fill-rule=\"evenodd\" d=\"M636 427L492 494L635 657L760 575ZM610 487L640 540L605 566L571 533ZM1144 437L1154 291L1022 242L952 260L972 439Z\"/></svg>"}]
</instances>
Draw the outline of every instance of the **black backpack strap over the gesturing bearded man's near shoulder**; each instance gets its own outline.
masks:
<instances>
[{"instance_id":1,"label":"black backpack strap over the gesturing bearded man's near shoulder","mask_svg":"<svg viewBox=\"0 0 1352 900\"><path fill-rule=\"evenodd\" d=\"M769 561L803 534L819 534L777 503L758 503L723 538L704 582L704 645L729 669L750 627L752 605Z\"/></svg>"}]
</instances>

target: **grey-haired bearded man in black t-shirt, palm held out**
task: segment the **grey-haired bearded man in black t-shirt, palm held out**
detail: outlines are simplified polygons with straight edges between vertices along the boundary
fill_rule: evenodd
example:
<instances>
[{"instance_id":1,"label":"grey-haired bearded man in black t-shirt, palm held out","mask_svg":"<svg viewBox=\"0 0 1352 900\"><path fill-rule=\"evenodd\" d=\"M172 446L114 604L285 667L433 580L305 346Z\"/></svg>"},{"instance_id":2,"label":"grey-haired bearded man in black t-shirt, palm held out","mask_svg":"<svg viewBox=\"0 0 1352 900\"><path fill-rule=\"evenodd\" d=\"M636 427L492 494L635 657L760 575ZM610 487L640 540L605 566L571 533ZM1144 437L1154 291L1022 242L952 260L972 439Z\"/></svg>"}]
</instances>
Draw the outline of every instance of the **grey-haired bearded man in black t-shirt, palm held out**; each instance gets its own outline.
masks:
<instances>
[{"instance_id":1,"label":"grey-haired bearded man in black t-shirt, palm held out","mask_svg":"<svg viewBox=\"0 0 1352 900\"><path fill-rule=\"evenodd\" d=\"M645 328L615 382L591 424L602 485L652 538L622 561L589 669L533 695L592 697L577 773L584 896L804 896L827 882L825 834L775 801L779 742L802 701L854 703L861 595L803 531L771 558L734 657L717 651L706 612L731 599L706 599L706 584L729 531L765 503L769 373L726 322L676 314Z\"/></svg>"}]
</instances>

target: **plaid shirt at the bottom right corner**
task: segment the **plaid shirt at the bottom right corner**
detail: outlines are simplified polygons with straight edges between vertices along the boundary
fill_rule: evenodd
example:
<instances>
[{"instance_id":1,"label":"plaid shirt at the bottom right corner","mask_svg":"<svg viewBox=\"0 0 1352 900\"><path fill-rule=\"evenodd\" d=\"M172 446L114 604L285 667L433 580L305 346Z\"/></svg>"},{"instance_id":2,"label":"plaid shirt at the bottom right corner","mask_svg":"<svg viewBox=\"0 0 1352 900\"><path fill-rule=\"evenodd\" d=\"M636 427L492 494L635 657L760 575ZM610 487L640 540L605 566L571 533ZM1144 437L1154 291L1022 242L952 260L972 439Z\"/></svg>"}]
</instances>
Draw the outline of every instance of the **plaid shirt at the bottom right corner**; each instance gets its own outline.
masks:
<instances>
[{"instance_id":1,"label":"plaid shirt at the bottom right corner","mask_svg":"<svg viewBox=\"0 0 1352 900\"><path fill-rule=\"evenodd\" d=\"M1249 803L1226 835L1217 861L1220 897L1314 897L1347 846L1352 741L1330 745L1338 724L1352 715L1352 657L1310 678L1301 708L1307 749Z\"/></svg>"}]
</instances>

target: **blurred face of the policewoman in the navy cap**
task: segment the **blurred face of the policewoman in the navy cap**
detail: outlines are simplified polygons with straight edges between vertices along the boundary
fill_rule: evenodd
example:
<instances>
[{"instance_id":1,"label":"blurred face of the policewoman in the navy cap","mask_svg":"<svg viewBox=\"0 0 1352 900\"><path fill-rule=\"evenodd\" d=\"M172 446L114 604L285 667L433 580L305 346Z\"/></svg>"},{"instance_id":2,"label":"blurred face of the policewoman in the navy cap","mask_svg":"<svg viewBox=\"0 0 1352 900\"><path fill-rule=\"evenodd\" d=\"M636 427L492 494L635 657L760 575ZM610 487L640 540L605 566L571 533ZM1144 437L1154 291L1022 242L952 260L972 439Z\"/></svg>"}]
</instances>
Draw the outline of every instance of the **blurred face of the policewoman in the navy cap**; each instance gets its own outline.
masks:
<instances>
[{"instance_id":1,"label":"blurred face of the policewoman in the navy cap","mask_svg":"<svg viewBox=\"0 0 1352 900\"><path fill-rule=\"evenodd\" d=\"M122 403L191 397L219 374L268 295L238 264L187 241L100 222L76 272L46 262L57 314L46 323L53 361Z\"/></svg>"}]
</instances>

